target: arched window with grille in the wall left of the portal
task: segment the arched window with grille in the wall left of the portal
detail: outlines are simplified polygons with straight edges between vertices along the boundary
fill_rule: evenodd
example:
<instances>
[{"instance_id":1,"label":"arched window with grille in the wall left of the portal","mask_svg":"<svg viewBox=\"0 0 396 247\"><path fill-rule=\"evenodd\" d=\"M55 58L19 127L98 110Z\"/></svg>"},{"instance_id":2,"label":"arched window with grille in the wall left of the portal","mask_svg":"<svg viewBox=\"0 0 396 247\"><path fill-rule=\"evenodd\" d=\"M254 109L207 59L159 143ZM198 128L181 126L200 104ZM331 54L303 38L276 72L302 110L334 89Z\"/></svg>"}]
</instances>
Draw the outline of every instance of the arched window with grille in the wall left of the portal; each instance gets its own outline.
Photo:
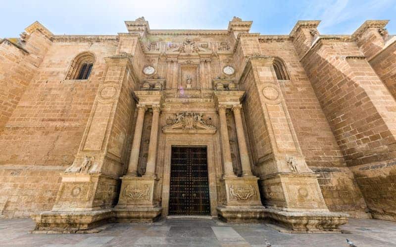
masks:
<instances>
[{"instance_id":1,"label":"arched window with grille in the wall left of the portal","mask_svg":"<svg viewBox=\"0 0 396 247\"><path fill-rule=\"evenodd\" d=\"M69 80L86 80L90 77L92 68L95 63L95 55L90 52L85 52L77 55L66 75Z\"/></svg>"}]
</instances>

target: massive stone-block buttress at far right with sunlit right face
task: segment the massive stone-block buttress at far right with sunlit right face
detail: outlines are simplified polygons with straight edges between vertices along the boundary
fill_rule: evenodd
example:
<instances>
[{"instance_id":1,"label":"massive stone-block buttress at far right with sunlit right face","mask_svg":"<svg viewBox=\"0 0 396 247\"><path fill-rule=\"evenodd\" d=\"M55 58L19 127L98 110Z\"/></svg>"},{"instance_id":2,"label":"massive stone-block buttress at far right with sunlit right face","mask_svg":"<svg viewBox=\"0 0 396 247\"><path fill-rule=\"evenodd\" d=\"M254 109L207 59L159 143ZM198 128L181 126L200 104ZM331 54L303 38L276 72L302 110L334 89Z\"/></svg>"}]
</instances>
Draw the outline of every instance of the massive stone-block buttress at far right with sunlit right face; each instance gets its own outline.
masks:
<instances>
[{"instance_id":1,"label":"massive stone-block buttress at far right with sunlit right face","mask_svg":"<svg viewBox=\"0 0 396 247\"><path fill-rule=\"evenodd\" d=\"M394 211L393 204L389 203L393 200L391 194L382 193L379 186L372 186L370 190L363 186L374 179L391 188L389 179L392 181L392 178L356 172L366 165L387 163L395 158L394 98L356 43L347 38L321 37L300 58L369 210L377 212L373 214L376 217L384 211L385 214ZM359 177L364 177L364 182Z\"/></svg>"}]
</instances>

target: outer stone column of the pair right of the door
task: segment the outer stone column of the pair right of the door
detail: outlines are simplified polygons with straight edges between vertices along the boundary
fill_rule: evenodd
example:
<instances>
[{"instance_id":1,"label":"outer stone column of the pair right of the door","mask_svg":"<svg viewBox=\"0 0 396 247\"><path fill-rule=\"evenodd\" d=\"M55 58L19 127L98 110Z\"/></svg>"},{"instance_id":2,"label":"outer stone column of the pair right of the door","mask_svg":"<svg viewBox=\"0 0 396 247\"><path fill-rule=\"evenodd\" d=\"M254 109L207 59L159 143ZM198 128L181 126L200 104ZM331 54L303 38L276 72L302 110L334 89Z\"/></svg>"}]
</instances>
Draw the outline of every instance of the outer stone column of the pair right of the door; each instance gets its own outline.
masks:
<instances>
[{"instance_id":1,"label":"outer stone column of the pair right of the door","mask_svg":"<svg viewBox=\"0 0 396 247\"><path fill-rule=\"evenodd\" d=\"M242 105L234 105L232 107L232 110L234 112L235 126L237 129L239 156L241 157L242 174L243 176L251 176L252 173L250 168L249 154L247 152L244 125L242 124L241 108Z\"/></svg>"}]
</instances>

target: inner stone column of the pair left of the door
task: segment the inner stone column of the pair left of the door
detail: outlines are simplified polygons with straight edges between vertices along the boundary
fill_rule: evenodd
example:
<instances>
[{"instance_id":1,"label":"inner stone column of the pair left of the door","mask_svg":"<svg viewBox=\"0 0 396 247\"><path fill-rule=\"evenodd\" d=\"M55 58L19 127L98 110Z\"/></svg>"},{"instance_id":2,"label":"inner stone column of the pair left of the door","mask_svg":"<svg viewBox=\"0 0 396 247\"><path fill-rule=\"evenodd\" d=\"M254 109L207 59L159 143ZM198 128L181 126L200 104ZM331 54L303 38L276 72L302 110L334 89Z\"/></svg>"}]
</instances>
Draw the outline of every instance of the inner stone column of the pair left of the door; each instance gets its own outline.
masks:
<instances>
[{"instance_id":1,"label":"inner stone column of the pair left of the door","mask_svg":"<svg viewBox=\"0 0 396 247\"><path fill-rule=\"evenodd\" d=\"M155 161L157 159L157 141L158 141L158 120L159 120L159 105L152 106L152 124L150 132L150 143L148 145L148 157L146 174L147 177L155 177Z\"/></svg>"}]
</instances>

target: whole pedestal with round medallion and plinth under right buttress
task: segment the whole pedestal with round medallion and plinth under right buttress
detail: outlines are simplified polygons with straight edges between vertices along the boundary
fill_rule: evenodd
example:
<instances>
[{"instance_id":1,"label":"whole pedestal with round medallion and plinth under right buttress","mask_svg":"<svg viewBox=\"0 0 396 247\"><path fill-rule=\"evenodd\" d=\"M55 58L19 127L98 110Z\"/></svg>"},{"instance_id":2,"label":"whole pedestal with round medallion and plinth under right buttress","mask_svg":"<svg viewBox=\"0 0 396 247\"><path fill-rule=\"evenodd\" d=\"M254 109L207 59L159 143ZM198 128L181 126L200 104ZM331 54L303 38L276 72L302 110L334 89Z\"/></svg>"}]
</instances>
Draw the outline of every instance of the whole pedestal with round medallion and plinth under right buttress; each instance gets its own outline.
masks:
<instances>
[{"instance_id":1,"label":"whole pedestal with round medallion and plinth under right buttress","mask_svg":"<svg viewBox=\"0 0 396 247\"><path fill-rule=\"evenodd\" d=\"M291 232L334 231L347 223L348 214L329 212L312 173L279 173L260 179L267 221Z\"/></svg>"}]
</instances>

